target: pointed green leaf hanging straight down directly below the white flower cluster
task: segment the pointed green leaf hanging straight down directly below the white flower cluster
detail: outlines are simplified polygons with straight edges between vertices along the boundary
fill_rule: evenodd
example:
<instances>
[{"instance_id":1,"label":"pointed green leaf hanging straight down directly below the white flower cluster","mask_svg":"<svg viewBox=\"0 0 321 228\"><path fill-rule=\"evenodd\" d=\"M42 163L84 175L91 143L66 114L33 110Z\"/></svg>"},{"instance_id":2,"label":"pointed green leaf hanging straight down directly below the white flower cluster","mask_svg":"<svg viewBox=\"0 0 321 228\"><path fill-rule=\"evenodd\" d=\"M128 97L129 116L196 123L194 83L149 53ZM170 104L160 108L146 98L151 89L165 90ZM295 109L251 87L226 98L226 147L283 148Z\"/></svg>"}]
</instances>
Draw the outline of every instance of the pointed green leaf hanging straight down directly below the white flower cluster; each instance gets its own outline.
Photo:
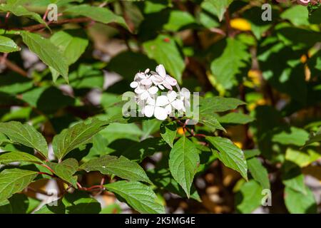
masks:
<instances>
[{"instance_id":1,"label":"pointed green leaf hanging straight down directly below the white flower cluster","mask_svg":"<svg viewBox=\"0 0 321 228\"><path fill-rule=\"evenodd\" d=\"M186 195L190 197L190 186L200 164L198 149L193 142L183 136L175 142L170 150L169 168L174 179L183 187Z\"/></svg>"}]
</instances>

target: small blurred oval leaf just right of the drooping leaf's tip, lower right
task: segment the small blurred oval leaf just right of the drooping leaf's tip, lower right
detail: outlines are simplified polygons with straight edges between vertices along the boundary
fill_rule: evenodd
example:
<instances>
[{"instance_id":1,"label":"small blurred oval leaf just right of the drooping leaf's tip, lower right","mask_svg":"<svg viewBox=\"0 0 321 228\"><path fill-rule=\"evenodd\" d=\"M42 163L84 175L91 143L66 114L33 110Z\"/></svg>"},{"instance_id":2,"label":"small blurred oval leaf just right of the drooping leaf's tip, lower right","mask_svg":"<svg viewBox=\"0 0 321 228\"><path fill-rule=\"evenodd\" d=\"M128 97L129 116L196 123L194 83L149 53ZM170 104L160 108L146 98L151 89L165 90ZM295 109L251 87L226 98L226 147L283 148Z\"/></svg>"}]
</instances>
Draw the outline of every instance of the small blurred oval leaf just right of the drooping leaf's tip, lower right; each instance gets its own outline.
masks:
<instances>
[{"instance_id":1,"label":"small blurred oval leaf just right of the drooping leaf's tip, lower right","mask_svg":"<svg viewBox=\"0 0 321 228\"><path fill-rule=\"evenodd\" d=\"M250 170L253 179L259 182L263 189L270 189L270 180L267 170L260 160L258 160L257 157L252 157L246 162L248 163L248 170Z\"/></svg>"}]
</instances>

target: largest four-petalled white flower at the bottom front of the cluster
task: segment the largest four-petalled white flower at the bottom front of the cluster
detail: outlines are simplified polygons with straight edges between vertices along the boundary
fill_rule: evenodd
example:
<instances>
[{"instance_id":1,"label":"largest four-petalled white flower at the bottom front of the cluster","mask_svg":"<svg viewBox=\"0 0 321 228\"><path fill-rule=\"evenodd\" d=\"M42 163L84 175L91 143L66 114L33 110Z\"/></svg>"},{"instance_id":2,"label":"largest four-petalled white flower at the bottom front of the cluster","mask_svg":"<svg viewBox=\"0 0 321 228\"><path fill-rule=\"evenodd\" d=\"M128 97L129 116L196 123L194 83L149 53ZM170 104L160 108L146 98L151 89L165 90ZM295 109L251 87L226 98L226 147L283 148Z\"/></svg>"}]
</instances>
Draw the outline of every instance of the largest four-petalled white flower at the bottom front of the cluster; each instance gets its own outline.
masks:
<instances>
[{"instance_id":1,"label":"largest four-petalled white flower at the bottom front of the cluster","mask_svg":"<svg viewBox=\"0 0 321 228\"><path fill-rule=\"evenodd\" d=\"M160 95L155 99L149 98L147 105L143 107L142 113L147 117L155 116L158 120L165 120L168 117L168 110L164 108L169 103L165 95Z\"/></svg>"}]
</instances>

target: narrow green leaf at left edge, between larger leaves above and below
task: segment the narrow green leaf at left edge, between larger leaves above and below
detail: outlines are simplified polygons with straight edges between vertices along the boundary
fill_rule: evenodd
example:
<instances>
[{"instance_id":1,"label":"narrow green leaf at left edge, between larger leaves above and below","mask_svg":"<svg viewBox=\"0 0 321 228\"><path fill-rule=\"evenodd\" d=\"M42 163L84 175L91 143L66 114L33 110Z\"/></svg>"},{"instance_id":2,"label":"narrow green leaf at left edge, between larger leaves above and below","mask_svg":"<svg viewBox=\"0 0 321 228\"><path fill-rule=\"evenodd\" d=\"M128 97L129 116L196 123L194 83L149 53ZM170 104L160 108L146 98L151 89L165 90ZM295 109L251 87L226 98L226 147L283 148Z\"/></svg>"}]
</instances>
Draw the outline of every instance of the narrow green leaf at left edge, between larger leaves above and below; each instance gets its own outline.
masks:
<instances>
[{"instance_id":1,"label":"narrow green leaf at left edge, between larger leaves above and below","mask_svg":"<svg viewBox=\"0 0 321 228\"><path fill-rule=\"evenodd\" d=\"M41 164L42 161L35 157L34 155L30 155L26 152L1 152L0 153L0 164L9 164L11 162L33 162L36 164Z\"/></svg>"}]
</instances>

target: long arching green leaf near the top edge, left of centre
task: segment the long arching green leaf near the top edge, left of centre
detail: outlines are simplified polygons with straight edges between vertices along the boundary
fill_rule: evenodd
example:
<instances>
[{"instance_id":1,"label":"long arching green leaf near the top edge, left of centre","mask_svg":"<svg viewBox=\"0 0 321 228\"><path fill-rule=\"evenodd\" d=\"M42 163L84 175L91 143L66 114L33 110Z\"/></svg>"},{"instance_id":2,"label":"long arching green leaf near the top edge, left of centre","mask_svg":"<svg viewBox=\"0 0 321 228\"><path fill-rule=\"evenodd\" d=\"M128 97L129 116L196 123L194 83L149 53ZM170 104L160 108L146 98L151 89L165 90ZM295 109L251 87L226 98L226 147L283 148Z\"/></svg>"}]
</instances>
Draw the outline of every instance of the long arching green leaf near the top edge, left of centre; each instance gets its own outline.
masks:
<instances>
[{"instance_id":1,"label":"long arching green leaf near the top edge, left of centre","mask_svg":"<svg viewBox=\"0 0 321 228\"><path fill-rule=\"evenodd\" d=\"M115 22L125 28L128 28L123 17L118 16L118 15L114 14L111 10L106 9L106 8L102 8L102 7L81 4L81 5L72 6L68 9L66 9L66 11L64 11L64 13L87 16L87 17L93 19L94 21L99 21L104 24Z\"/></svg>"}]
</instances>

